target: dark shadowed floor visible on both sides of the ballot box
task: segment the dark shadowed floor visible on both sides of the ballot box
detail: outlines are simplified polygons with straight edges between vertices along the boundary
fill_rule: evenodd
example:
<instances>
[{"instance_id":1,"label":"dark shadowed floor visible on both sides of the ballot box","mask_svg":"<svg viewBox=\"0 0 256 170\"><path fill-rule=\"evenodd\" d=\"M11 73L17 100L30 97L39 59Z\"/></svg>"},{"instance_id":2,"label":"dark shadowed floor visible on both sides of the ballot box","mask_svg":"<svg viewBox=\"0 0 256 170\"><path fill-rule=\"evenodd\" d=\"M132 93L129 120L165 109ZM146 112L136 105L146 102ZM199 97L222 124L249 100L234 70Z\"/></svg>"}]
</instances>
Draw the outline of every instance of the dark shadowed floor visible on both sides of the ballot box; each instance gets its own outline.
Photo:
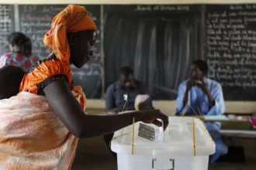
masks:
<instances>
[{"instance_id":1,"label":"dark shadowed floor visible on both sides of the ballot box","mask_svg":"<svg viewBox=\"0 0 256 170\"><path fill-rule=\"evenodd\" d=\"M209 170L254 170L256 169L256 141L245 142L247 162L244 164L218 163ZM247 143L246 143L247 142ZM116 161L109 153L102 137L81 139L72 170L117 170Z\"/></svg>"}]
</instances>

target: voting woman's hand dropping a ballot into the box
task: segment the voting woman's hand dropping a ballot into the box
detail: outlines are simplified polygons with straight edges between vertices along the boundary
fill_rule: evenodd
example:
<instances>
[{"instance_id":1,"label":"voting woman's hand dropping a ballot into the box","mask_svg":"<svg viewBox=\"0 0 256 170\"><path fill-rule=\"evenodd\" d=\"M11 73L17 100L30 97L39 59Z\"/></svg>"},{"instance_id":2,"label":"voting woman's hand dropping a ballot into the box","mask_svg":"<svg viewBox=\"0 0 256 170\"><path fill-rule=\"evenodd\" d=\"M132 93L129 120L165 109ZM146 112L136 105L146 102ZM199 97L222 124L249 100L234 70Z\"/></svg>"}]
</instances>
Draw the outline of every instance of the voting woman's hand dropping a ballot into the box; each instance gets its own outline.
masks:
<instances>
[{"instance_id":1,"label":"voting woman's hand dropping a ballot into the box","mask_svg":"<svg viewBox=\"0 0 256 170\"><path fill-rule=\"evenodd\" d=\"M164 121L164 131L168 127L169 124L169 117L162 114L160 110L143 110L140 111L140 120L143 121L145 124L155 124L158 127L161 127L161 121L157 119L161 119Z\"/></svg>"}]
</instances>

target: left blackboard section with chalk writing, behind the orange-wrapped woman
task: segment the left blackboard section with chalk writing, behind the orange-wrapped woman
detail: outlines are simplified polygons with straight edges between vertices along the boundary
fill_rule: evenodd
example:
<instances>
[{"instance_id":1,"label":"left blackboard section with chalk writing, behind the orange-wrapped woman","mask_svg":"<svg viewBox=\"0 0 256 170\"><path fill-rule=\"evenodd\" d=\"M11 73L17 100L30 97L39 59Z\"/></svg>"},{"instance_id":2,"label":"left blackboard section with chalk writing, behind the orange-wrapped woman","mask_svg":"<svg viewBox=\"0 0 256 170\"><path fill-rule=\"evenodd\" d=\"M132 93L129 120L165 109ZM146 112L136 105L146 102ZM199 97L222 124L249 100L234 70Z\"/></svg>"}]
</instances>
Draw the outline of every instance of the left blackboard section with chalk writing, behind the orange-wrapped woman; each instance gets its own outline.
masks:
<instances>
[{"instance_id":1,"label":"left blackboard section with chalk writing, behind the orange-wrapped woman","mask_svg":"<svg viewBox=\"0 0 256 170\"><path fill-rule=\"evenodd\" d=\"M0 46L1 54L9 52L7 36L12 31L23 32L33 44L33 54L44 59L49 55L49 49L44 46L42 38L50 29L51 21L58 12L67 5L0 5ZM102 64L101 64L101 36L100 36L100 5L85 5L89 15L98 27L98 36L93 47L94 56L81 69L72 66L74 85L83 87L88 98L102 96Z\"/></svg>"}]
</instances>

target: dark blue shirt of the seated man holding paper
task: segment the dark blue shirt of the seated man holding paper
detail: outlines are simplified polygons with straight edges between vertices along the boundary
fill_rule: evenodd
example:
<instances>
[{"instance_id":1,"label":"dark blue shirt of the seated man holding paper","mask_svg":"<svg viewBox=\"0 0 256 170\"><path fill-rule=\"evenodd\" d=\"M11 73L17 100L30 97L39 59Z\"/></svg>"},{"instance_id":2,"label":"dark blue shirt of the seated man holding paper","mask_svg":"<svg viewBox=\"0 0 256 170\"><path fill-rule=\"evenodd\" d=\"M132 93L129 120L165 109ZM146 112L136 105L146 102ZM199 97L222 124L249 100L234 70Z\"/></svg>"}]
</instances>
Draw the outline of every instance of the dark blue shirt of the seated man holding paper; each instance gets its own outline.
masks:
<instances>
[{"instance_id":1,"label":"dark blue shirt of the seated man holding paper","mask_svg":"<svg viewBox=\"0 0 256 170\"><path fill-rule=\"evenodd\" d=\"M142 83L137 80L134 80L134 87L130 90L122 87L121 83L116 81L106 90L106 110L112 110L118 107L123 108L126 102L123 97L124 94L127 94L128 96L128 104L126 104L125 110L135 110L135 98L138 94L147 94L147 90L145 90ZM152 100L149 100L145 105L146 109L152 109Z\"/></svg>"}]
</instances>

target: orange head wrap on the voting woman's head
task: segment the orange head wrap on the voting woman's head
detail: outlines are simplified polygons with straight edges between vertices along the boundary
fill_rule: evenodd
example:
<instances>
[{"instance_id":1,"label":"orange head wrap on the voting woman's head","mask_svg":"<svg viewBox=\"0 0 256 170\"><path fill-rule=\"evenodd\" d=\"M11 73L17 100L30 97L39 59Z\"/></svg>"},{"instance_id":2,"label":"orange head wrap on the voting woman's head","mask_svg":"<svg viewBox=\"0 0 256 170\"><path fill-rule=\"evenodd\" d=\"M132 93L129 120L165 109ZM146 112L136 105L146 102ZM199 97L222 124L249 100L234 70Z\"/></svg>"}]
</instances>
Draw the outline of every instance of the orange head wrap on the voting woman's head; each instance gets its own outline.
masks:
<instances>
[{"instance_id":1,"label":"orange head wrap on the voting woman's head","mask_svg":"<svg viewBox=\"0 0 256 170\"><path fill-rule=\"evenodd\" d=\"M64 11L57 14L51 24L51 29L43 36L43 43L50 47L57 59L69 62L70 48L67 32L79 32L97 29L95 22L83 6L68 5Z\"/></svg>"}]
</instances>

